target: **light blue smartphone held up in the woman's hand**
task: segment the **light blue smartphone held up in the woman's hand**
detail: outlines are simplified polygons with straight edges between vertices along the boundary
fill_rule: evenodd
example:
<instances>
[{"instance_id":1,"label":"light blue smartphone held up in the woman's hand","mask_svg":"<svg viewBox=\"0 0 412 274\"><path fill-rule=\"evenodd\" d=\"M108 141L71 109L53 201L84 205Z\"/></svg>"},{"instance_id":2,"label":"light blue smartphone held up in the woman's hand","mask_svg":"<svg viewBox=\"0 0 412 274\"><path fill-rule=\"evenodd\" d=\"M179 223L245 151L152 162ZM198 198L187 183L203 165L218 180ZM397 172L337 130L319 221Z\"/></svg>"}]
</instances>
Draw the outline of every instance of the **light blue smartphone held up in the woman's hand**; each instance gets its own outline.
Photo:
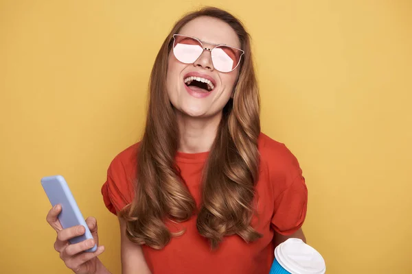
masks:
<instances>
[{"instance_id":1,"label":"light blue smartphone held up in the woman's hand","mask_svg":"<svg viewBox=\"0 0 412 274\"><path fill-rule=\"evenodd\" d=\"M41 185L43 186L50 203L52 203L52 206L55 206L58 203L62 206L62 211L58 214L58 220L62 227L68 228L75 225L82 225L86 230L83 235L76 236L69 240L69 242L73 245L87 239L93 239L90 229L87 226L86 221L84 221L82 212L80 212L65 178L61 175L43 177L41 179ZM95 245L91 249L85 251L94 252L97 249L98 246Z\"/></svg>"}]
</instances>

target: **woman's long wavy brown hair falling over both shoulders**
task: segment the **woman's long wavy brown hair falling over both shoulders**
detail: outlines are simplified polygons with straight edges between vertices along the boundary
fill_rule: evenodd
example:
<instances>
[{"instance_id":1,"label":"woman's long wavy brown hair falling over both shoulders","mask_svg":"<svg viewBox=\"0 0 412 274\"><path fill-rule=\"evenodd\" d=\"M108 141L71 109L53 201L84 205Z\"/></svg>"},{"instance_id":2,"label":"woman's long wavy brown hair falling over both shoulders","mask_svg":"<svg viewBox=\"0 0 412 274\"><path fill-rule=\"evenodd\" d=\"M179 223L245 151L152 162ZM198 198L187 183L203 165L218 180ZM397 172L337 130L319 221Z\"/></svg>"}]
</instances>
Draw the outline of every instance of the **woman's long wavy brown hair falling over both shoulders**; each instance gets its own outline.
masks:
<instances>
[{"instance_id":1,"label":"woman's long wavy brown hair falling over both shoulders","mask_svg":"<svg viewBox=\"0 0 412 274\"><path fill-rule=\"evenodd\" d=\"M233 99L223 109L209 151L203 171L201 206L196 208L175 162L179 129L165 79L173 34L199 16L229 24L238 34L244 58ZM162 249L172 236L184 233L172 234L165 221L183 222L194 214L198 233L209 240L212 249L218 247L224 236L237 234L247 242L260 238L262 235L251 227L258 181L260 99L250 37L242 23L228 12L210 7L183 16L157 54L149 92L146 129L137 153L135 199L120 212L126 220L128 238L139 245Z\"/></svg>"}]
</instances>

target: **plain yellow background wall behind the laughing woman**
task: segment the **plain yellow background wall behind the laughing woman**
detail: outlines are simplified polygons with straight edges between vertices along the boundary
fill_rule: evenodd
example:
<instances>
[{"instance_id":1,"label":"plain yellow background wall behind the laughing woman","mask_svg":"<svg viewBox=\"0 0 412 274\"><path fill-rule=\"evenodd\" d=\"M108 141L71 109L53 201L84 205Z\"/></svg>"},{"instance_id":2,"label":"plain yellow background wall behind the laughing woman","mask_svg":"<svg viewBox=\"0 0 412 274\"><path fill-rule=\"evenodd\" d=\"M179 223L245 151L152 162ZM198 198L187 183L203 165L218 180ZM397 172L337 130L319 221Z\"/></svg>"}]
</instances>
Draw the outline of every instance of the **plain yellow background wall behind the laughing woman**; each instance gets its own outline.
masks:
<instances>
[{"instance_id":1,"label":"plain yellow background wall behind the laughing woman","mask_svg":"<svg viewBox=\"0 0 412 274\"><path fill-rule=\"evenodd\" d=\"M66 177L120 273L100 187L139 139L148 76L174 21L201 4L253 37L262 127L297 155L304 231L327 273L412 273L412 2L0 1L0 273L70 273L40 179Z\"/></svg>"}]
</instances>

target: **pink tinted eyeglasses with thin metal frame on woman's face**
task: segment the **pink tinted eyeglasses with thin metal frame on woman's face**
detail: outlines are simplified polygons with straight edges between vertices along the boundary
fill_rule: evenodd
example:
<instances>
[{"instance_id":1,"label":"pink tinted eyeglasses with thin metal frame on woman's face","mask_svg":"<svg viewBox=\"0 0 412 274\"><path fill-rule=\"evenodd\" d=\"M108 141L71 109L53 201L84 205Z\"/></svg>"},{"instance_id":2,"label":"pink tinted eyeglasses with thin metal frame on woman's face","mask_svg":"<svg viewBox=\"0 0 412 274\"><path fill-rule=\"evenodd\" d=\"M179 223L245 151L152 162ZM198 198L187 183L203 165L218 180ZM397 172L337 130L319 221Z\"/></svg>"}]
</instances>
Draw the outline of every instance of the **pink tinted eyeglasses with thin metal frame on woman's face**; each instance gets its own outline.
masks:
<instances>
[{"instance_id":1,"label":"pink tinted eyeglasses with thin metal frame on woman's face","mask_svg":"<svg viewBox=\"0 0 412 274\"><path fill-rule=\"evenodd\" d=\"M229 73L240 64L244 54L242 49L227 45L214 45L213 49L203 46L201 40L182 34L173 35L173 54L177 60L185 64L193 64L201 57L203 51L211 53L211 62L214 69L222 73Z\"/></svg>"}]
</instances>

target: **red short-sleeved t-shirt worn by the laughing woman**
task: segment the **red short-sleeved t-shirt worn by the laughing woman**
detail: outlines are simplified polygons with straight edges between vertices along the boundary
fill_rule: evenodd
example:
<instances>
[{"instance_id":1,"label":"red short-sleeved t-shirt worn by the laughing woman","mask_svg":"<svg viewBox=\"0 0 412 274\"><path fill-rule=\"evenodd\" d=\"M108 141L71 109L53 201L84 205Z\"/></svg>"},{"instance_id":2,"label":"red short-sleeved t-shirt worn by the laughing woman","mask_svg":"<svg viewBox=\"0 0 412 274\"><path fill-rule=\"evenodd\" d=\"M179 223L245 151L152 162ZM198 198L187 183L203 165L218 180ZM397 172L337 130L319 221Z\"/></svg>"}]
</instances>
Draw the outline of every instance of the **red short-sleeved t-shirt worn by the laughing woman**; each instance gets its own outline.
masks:
<instances>
[{"instance_id":1,"label":"red short-sleeved t-shirt worn by the laughing woman","mask_svg":"<svg viewBox=\"0 0 412 274\"><path fill-rule=\"evenodd\" d=\"M108 168L107 181L102 187L104 203L117 214L134 197L133 179L136 170L135 144L115 157ZM293 234L304 223L308 190L295 156L282 143L260 134L260 174L256 184L258 217L253 227L263 234L247 243L239 236L227 236L216 251L198 234L196 216L183 223L167 223L171 231L186 228L185 233L161 250L142 246L152 274L210 274L210 273L269 273L273 262L273 233ZM207 152L181 153L176 163L196 203L201 197L201 173Z\"/></svg>"}]
</instances>

